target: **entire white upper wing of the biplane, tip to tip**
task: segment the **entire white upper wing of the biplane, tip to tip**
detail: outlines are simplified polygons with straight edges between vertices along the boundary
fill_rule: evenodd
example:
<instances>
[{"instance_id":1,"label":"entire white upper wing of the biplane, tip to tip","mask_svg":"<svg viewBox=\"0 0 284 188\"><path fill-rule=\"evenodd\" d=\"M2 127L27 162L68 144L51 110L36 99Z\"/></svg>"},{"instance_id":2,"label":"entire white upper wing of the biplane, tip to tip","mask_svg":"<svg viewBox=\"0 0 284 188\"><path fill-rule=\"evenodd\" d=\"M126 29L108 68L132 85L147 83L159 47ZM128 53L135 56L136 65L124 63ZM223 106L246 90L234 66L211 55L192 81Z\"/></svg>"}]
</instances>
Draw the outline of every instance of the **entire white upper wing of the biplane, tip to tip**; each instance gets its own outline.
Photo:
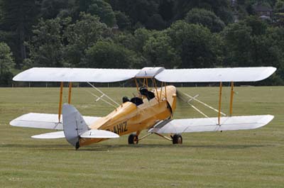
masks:
<instances>
[{"instance_id":1,"label":"entire white upper wing of the biplane, tip to tip","mask_svg":"<svg viewBox=\"0 0 284 188\"><path fill-rule=\"evenodd\" d=\"M145 67L142 70L91 68L31 68L15 77L21 82L120 82L126 79L153 78L161 82L256 82L266 79L275 67L235 67L165 70Z\"/></svg>"}]
</instances>

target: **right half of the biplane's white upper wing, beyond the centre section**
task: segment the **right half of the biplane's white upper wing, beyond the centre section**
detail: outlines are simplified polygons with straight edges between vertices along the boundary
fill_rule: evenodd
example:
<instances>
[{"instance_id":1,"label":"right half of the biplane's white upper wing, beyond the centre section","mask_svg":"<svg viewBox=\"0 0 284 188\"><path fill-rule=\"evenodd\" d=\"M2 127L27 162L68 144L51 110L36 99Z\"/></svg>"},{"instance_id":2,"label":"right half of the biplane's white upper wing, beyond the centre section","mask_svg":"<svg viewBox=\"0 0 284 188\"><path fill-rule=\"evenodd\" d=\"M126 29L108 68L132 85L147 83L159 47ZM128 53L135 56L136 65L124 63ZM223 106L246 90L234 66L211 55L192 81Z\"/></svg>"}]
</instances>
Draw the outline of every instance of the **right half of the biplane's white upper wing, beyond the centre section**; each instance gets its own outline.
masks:
<instances>
[{"instance_id":1,"label":"right half of the biplane's white upper wing, beyond the centre section","mask_svg":"<svg viewBox=\"0 0 284 188\"><path fill-rule=\"evenodd\" d=\"M161 82L256 82L266 79L275 70L275 67L163 70L155 79Z\"/></svg>"}]
</instances>

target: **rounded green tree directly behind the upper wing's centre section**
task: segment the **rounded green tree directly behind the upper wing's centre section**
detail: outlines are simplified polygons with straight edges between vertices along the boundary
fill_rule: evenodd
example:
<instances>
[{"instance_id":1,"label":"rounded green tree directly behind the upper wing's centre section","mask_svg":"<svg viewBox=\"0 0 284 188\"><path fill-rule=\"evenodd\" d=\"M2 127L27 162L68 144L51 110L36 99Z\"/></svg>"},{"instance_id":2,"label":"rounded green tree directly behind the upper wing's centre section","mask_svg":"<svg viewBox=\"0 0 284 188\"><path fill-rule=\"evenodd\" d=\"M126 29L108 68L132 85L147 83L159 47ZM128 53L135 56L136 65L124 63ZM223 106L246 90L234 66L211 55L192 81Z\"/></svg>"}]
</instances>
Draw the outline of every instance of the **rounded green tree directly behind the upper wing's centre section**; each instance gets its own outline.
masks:
<instances>
[{"instance_id":1,"label":"rounded green tree directly behind the upper wing's centre section","mask_svg":"<svg viewBox=\"0 0 284 188\"><path fill-rule=\"evenodd\" d=\"M178 52L170 45L170 37L165 32L156 32L146 40L143 46L143 56L149 60L150 67L179 67L180 57Z\"/></svg>"}]
</instances>

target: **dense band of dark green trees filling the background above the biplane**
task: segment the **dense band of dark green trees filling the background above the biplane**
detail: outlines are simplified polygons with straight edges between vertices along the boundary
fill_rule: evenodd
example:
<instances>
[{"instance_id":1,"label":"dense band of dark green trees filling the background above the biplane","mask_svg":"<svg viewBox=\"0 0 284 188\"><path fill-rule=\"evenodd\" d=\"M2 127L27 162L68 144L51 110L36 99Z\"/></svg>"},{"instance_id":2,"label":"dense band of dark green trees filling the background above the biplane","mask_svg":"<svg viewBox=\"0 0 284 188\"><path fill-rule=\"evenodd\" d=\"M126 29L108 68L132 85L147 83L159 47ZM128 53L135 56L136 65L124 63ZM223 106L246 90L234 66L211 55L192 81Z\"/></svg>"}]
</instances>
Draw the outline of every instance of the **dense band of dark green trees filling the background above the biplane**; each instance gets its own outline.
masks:
<instances>
[{"instance_id":1,"label":"dense band of dark green trees filling the background above the biplane","mask_svg":"<svg viewBox=\"0 0 284 188\"><path fill-rule=\"evenodd\" d=\"M272 18L259 18L256 5L273 9ZM284 84L283 26L283 0L0 0L0 43L11 48L12 72L275 66L266 84Z\"/></svg>"}]
</instances>

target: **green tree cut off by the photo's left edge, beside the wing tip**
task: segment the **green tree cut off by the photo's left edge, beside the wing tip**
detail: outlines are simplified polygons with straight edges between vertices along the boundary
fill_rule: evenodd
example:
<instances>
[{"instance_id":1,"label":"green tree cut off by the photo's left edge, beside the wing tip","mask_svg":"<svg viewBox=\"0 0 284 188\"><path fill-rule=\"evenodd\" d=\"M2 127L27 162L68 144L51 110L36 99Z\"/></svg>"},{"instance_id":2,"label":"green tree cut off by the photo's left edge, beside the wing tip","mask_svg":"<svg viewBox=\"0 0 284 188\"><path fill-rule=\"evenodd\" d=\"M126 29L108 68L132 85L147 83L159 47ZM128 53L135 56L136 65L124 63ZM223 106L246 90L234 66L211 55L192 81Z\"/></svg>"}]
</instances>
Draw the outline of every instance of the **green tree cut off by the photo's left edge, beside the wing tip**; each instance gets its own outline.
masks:
<instances>
[{"instance_id":1,"label":"green tree cut off by the photo's left edge, beside the wing tip","mask_svg":"<svg viewBox=\"0 0 284 188\"><path fill-rule=\"evenodd\" d=\"M14 62L9 45L0 43L0 85L8 85L11 82L13 66Z\"/></svg>"}]
</instances>

